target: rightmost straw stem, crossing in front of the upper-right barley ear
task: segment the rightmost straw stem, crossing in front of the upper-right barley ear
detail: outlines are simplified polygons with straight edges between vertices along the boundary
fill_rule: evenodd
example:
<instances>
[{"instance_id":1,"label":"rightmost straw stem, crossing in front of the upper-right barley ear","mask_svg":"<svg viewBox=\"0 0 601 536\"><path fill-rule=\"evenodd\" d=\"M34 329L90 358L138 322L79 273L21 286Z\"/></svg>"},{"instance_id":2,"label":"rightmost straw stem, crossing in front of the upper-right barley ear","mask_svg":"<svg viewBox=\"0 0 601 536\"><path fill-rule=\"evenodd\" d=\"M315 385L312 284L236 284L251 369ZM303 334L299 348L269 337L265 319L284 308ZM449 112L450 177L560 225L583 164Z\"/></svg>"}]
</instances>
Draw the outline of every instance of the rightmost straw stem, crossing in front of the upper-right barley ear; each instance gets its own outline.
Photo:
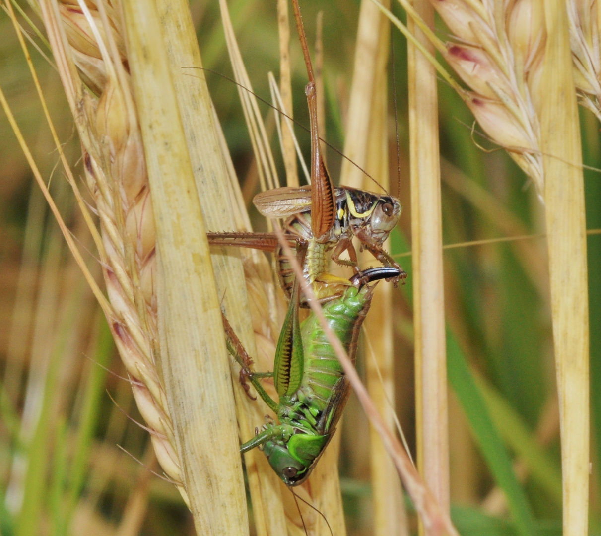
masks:
<instances>
[{"instance_id":1,"label":"rightmost straw stem, crossing in front of the upper-right barley ear","mask_svg":"<svg viewBox=\"0 0 601 536\"><path fill-rule=\"evenodd\" d=\"M588 533L588 289L581 142L566 5L545 0L542 150L555 367L560 401L563 534Z\"/></svg>"}]
</instances>

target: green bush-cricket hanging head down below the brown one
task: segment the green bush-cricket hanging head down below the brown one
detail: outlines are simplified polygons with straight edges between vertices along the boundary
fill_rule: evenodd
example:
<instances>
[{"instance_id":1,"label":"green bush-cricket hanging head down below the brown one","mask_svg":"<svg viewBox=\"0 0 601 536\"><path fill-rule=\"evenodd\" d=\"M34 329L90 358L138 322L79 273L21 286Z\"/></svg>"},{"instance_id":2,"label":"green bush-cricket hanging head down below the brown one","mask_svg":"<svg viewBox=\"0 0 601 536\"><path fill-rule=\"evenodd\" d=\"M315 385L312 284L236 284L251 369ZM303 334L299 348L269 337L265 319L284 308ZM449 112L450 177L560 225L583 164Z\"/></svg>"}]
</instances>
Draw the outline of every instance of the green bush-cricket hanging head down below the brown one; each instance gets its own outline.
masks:
<instances>
[{"instance_id":1,"label":"green bush-cricket hanging head down below the brown one","mask_svg":"<svg viewBox=\"0 0 601 536\"><path fill-rule=\"evenodd\" d=\"M305 246L306 247L306 246ZM302 253L303 252L299 252ZM398 278L400 270L377 267L349 280L350 286L323 305L326 321L354 363L359 329L370 308L377 279ZM293 285L294 296L299 291ZM297 316L296 316L297 319ZM248 379L258 395L276 414L278 423L266 418L263 430L244 443L240 452L258 446L279 478L287 486L305 481L334 435L349 396L350 385L328 338L313 312L300 324L294 317L284 320L276 348L273 373L254 373L252 360L223 315L228 350L242 367L241 380ZM273 377L279 402L260 383ZM244 385L244 384L243 384ZM248 392L248 385L245 386Z\"/></svg>"}]
</instances>

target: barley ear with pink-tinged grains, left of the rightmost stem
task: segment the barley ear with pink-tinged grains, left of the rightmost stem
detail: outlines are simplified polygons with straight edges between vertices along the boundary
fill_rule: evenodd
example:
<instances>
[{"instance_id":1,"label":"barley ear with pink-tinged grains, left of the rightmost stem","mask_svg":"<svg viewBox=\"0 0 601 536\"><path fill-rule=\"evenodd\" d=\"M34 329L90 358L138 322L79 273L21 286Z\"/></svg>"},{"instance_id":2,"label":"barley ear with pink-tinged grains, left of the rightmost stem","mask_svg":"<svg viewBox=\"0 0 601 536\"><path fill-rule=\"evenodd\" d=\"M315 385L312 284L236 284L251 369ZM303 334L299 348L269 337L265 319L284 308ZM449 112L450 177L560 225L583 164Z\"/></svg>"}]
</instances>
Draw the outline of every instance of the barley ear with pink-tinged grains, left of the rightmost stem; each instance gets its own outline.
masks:
<instances>
[{"instance_id":1,"label":"barley ear with pink-tinged grains, left of the rightmost stem","mask_svg":"<svg viewBox=\"0 0 601 536\"><path fill-rule=\"evenodd\" d=\"M537 95L545 30L540 3L519 0L505 13L478 0L432 4L456 38L445 44L444 56L474 92L465 102L542 195Z\"/></svg>"}]
</instances>

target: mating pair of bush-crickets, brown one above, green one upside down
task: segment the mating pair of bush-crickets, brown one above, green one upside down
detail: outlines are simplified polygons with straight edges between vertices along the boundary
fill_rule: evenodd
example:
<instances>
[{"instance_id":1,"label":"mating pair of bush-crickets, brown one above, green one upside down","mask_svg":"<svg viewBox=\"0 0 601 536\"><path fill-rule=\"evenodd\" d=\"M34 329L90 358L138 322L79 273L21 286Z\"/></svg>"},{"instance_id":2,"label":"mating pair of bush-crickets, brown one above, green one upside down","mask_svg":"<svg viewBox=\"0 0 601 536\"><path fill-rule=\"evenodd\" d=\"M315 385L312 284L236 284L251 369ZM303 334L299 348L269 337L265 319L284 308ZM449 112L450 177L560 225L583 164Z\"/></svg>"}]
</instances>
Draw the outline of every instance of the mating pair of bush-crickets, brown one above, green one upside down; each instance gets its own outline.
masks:
<instances>
[{"instance_id":1,"label":"mating pair of bush-crickets, brown one above, green one upside down","mask_svg":"<svg viewBox=\"0 0 601 536\"><path fill-rule=\"evenodd\" d=\"M368 283L378 279L404 281L406 273L383 250L383 242L401 213L398 199L332 184L319 147L316 84L297 0L294 17L307 65L305 93L310 114L311 186L284 187L255 196L257 209L268 218L287 218L284 236L296 248L304 278L323 304L326 321L354 362L358 333L373 296ZM334 433L349 395L349 382L317 317L299 321L299 307L307 305L299 291L290 261L273 233L209 233L209 243L275 252L279 280L290 298L276 348L273 373L255 373L252 361L224 317L228 349L257 393L276 414L240 451L263 448L269 463L285 484L300 484L311 472ZM353 237L385 266L361 272ZM338 264L351 266L355 275L340 278L327 272L329 251ZM341 259L344 251L349 260ZM264 390L260 379L272 376L279 402Z\"/></svg>"}]
</instances>

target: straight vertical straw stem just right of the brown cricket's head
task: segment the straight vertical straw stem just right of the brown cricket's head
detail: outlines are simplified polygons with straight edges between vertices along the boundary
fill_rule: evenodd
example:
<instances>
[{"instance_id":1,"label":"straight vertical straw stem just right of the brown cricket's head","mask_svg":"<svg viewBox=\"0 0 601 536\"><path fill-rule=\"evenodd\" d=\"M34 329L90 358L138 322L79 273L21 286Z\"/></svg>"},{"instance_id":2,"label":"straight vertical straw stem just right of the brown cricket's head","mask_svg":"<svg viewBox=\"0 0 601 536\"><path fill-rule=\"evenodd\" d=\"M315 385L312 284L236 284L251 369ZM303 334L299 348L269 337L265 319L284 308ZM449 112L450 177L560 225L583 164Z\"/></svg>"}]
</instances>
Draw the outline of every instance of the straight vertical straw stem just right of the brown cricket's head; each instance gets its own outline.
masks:
<instances>
[{"instance_id":1,"label":"straight vertical straw stem just right of the brown cricket's head","mask_svg":"<svg viewBox=\"0 0 601 536\"><path fill-rule=\"evenodd\" d=\"M434 10L429 2L415 0L413 6L433 27ZM432 44L413 22L409 21L408 26L433 52ZM436 71L412 44L408 49L418 467L441 508L448 512L447 353Z\"/></svg>"}]
</instances>

